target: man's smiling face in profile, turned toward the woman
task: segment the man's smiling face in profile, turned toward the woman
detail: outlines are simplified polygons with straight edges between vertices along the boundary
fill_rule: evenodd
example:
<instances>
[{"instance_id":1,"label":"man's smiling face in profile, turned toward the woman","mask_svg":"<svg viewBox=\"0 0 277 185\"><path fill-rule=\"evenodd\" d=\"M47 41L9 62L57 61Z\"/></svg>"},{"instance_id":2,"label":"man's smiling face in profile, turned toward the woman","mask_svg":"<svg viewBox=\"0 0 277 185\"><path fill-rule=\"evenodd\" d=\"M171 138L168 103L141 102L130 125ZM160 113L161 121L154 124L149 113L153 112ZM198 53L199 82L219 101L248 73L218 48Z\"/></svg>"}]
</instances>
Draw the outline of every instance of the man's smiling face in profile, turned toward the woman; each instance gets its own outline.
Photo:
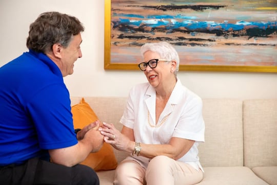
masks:
<instances>
[{"instance_id":1,"label":"man's smiling face in profile, turned toward the woman","mask_svg":"<svg viewBox=\"0 0 277 185\"><path fill-rule=\"evenodd\" d=\"M81 45L82 37L81 33L74 35L67 48L63 48L61 55L61 71L63 77L71 75L73 73L74 62L82 57Z\"/></svg>"}]
</instances>

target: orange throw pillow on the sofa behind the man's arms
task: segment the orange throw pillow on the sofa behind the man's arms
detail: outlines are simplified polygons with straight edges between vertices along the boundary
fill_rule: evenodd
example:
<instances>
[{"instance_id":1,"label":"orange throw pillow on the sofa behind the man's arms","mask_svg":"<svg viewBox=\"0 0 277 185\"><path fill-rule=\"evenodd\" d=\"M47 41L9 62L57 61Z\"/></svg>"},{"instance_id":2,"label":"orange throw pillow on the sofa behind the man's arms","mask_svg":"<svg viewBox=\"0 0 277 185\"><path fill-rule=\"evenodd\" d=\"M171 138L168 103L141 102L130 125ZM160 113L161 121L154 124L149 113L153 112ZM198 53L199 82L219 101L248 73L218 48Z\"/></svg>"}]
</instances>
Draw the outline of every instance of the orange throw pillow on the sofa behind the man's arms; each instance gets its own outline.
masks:
<instances>
[{"instance_id":1,"label":"orange throw pillow on the sofa behind the man's arms","mask_svg":"<svg viewBox=\"0 0 277 185\"><path fill-rule=\"evenodd\" d=\"M79 104L71 107L71 112L75 129L83 128L85 125L98 119L84 98L82 98ZM90 153L81 164L87 165L95 171L114 170L117 167L112 146L105 142L98 152Z\"/></svg>"}]
</instances>

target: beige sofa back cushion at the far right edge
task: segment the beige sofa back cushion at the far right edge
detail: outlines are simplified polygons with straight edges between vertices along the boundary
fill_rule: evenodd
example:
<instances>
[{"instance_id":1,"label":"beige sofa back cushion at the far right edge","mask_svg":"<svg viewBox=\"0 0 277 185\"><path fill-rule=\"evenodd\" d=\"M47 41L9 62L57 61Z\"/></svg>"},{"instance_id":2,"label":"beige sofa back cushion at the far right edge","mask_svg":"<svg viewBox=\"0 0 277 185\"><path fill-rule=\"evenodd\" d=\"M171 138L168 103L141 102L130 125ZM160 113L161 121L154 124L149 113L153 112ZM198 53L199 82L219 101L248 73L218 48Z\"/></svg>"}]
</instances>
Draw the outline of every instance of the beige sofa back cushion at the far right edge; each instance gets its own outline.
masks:
<instances>
[{"instance_id":1,"label":"beige sofa back cushion at the far right edge","mask_svg":"<svg viewBox=\"0 0 277 185\"><path fill-rule=\"evenodd\" d=\"M277 166L277 99L243 103L245 165Z\"/></svg>"}]
</instances>

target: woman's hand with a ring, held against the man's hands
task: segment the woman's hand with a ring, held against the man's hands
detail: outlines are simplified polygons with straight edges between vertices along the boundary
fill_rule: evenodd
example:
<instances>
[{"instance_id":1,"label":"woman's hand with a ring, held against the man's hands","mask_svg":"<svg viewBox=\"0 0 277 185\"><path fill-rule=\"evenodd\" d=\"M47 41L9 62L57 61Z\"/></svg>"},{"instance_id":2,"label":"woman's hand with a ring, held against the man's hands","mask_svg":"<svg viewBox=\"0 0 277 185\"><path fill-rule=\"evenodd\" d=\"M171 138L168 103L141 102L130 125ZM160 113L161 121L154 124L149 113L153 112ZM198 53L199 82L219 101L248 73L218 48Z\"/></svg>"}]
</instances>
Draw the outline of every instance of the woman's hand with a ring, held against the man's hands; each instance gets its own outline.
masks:
<instances>
[{"instance_id":1,"label":"woman's hand with a ring, held against the man's hands","mask_svg":"<svg viewBox=\"0 0 277 185\"><path fill-rule=\"evenodd\" d=\"M99 131L104 136L104 140L115 149L125 152L133 152L134 142L118 131L113 124L103 123Z\"/></svg>"}]
</instances>

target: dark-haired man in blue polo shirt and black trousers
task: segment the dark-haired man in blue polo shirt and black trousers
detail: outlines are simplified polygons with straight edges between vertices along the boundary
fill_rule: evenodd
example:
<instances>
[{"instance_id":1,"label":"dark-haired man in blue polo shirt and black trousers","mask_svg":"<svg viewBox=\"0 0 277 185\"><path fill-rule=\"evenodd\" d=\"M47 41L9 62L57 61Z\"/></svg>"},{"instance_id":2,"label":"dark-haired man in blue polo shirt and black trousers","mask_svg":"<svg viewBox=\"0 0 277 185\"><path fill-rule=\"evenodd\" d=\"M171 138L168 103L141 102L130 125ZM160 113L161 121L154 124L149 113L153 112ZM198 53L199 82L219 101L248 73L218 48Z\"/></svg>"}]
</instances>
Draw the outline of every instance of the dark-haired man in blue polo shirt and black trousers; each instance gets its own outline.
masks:
<instances>
[{"instance_id":1,"label":"dark-haired man in blue polo shirt and black trousers","mask_svg":"<svg viewBox=\"0 0 277 185\"><path fill-rule=\"evenodd\" d=\"M83 31L76 17L42 13L30 25L29 52L0 68L0 184L99 184L78 163L102 147L100 122L76 135L63 81L82 57Z\"/></svg>"}]
</instances>

